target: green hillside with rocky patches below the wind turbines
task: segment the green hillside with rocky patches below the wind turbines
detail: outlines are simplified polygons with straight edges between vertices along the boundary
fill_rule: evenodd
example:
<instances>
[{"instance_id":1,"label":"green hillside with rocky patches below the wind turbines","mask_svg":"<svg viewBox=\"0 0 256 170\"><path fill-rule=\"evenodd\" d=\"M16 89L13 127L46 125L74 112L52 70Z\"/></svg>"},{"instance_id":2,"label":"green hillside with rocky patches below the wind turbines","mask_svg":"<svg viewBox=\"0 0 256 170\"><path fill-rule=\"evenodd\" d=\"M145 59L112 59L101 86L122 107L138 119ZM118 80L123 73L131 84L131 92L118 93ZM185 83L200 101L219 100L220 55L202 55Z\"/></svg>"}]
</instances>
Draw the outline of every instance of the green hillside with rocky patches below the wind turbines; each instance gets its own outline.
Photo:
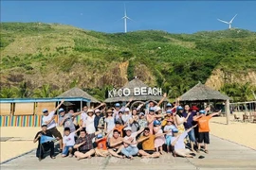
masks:
<instances>
[{"instance_id":1,"label":"green hillside with rocky patches below the wind turbines","mask_svg":"<svg viewBox=\"0 0 256 170\"><path fill-rule=\"evenodd\" d=\"M1 87L20 91L26 82L32 93L44 84L52 91L79 86L103 99L107 88L138 76L175 97L218 69L245 79L229 78L223 86L250 81L253 88L256 80L247 73L256 72L255 40L255 32L243 29L107 34L60 24L1 23Z\"/></svg>"}]
</instances>

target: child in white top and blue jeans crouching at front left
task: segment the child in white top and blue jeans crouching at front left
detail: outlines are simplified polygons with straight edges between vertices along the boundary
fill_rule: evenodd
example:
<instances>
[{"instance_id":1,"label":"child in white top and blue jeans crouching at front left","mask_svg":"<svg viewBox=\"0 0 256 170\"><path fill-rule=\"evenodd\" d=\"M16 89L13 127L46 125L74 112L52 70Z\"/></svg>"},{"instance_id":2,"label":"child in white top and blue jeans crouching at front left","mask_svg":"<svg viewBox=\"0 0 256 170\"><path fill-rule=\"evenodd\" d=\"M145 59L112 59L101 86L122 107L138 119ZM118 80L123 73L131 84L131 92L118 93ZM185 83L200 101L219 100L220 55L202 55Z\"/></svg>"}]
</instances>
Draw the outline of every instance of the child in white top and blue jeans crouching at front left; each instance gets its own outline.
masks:
<instances>
[{"instance_id":1,"label":"child in white top and blue jeans crouching at front left","mask_svg":"<svg viewBox=\"0 0 256 170\"><path fill-rule=\"evenodd\" d=\"M69 153L69 158L73 157L73 146L75 145L75 135L76 133L81 130L82 127L78 128L76 131L70 133L69 127L64 127L64 150L62 157L66 157Z\"/></svg>"}]
</instances>

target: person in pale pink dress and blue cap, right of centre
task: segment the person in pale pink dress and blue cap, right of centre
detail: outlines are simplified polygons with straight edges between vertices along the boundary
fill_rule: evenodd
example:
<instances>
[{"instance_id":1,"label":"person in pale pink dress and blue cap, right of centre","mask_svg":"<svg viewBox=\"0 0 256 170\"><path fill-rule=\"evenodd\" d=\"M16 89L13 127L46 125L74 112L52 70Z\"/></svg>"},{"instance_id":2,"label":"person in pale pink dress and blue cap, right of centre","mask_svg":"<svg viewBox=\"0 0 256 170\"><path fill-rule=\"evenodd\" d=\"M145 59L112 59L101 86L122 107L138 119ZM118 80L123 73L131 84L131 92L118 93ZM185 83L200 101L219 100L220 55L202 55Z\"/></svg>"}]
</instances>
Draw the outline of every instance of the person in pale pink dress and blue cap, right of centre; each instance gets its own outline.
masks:
<instances>
[{"instance_id":1,"label":"person in pale pink dress and blue cap, right of centre","mask_svg":"<svg viewBox=\"0 0 256 170\"><path fill-rule=\"evenodd\" d=\"M155 135L159 135L163 133L163 130L161 129L161 123L157 120L154 121L154 133ZM160 148L160 154L163 154L163 144L165 143L164 136L158 136L155 138L155 150L158 152L158 148Z\"/></svg>"}]
</instances>

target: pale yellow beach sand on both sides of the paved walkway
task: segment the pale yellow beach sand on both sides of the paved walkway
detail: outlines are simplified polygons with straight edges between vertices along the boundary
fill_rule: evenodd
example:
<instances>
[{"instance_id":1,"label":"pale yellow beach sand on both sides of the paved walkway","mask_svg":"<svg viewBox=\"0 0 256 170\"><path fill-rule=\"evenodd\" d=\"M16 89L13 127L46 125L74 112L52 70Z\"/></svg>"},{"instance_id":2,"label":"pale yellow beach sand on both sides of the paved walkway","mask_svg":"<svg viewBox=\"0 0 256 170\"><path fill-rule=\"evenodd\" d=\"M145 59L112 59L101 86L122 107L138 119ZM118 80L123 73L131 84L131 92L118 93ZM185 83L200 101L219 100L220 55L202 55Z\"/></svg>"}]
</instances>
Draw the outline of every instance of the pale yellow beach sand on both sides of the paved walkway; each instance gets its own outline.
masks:
<instances>
[{"instance_id":1,"label":"pale yellow beach sand on both sides of the paved walkway","mask_svg":"<svg viewBox=\"0 0 256 170\"><path fill-rule=\"evenodd\" d=\"M41 127L1 127L1 137L14 137L7 142L1 142L1 162L19 156L33 148L35 134ZM63 132L62 127L58 127ZM210 134L227 139L231 142L243 144L256 149L256 124L234 122L230 115L230 124L226 125L226 117L213 117L210 120ZM15 141L20 140L20 141Z\"/></svg>"}]
</instances>

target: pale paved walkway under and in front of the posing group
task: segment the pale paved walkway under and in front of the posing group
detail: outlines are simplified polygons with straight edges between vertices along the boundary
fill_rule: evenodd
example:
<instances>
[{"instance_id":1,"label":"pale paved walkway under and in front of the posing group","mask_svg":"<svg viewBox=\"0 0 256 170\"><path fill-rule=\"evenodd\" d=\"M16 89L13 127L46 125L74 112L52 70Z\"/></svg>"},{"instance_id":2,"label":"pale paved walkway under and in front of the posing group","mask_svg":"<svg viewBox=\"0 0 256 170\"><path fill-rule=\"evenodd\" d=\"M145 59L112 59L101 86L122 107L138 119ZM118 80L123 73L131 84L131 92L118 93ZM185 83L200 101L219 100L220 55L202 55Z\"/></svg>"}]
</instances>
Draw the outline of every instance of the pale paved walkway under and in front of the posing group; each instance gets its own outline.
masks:
<instances>
[{"instance_id":1,"label":"pale paved walkway under and in front of the posing group","mask_svg":"<svg viewBox=\"0 0 256 170\"><path fill-rule=\"evenodd\" d=\"M22 147L22 145L21 145ZM38 161L35 157L35 151L1 164L1 170L80 170L80 169L97 169L97 170L238 170L256 169L256 151L240 144L234 144L222 140L215 136L210 136L210 153L201 152L193 159L173 157L171 154L165 154L159 159L140 159L130 161L127 159L116 158L92 158L89 160L77 161L75 158L61 158L57 156L56 160L46 157L43 161ZM203 155L204 159L198 159Z\"/></svg>"}]
</instances>

